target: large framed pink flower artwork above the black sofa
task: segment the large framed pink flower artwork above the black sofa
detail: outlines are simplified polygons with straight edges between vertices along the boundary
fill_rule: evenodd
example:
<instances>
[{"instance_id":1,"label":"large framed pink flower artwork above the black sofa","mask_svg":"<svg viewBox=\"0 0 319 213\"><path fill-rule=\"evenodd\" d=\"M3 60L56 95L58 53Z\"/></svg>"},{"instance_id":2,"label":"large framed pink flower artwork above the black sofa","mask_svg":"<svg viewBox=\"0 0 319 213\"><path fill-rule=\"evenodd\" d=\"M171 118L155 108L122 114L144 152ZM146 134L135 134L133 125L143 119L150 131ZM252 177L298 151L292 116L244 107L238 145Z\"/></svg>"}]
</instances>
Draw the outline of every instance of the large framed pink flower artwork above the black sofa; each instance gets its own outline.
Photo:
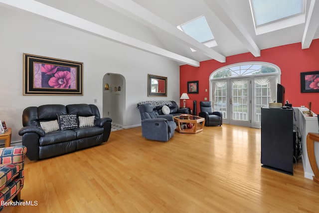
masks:
<instances>
[{"instance_id":1,"label":"large framed pink flower artwork above the black sofa","mask_svg":"<svg viewBox=\"0 0 319 213\"><path fill-rule=\"evenodd\" d=\"M23 53L23 95L83 95L83 63Z\"/></svg>"}]
</instances>

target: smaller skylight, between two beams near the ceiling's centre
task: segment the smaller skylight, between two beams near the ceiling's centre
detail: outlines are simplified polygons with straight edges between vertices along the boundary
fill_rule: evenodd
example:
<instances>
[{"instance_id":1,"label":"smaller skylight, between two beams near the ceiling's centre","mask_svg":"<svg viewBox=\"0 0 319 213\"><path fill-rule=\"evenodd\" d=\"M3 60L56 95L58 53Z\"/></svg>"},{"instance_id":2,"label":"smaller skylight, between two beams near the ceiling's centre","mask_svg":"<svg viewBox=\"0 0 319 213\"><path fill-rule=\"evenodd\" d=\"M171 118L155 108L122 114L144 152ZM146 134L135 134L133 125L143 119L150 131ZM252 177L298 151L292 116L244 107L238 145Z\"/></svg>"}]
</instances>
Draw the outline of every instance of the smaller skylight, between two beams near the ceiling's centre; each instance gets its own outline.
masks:
<instances>
[{"instance_id":1,"label":"smaller skylight, between two beams near the ceiling's centre","mask_svg":"<svg viewBox=\"0 0 319 213\"><path fill-rule=\"evenodd\" d=\"M204 15L180 24L177 28L201 43L214 39Z\"/></svg>"}]
</instances>

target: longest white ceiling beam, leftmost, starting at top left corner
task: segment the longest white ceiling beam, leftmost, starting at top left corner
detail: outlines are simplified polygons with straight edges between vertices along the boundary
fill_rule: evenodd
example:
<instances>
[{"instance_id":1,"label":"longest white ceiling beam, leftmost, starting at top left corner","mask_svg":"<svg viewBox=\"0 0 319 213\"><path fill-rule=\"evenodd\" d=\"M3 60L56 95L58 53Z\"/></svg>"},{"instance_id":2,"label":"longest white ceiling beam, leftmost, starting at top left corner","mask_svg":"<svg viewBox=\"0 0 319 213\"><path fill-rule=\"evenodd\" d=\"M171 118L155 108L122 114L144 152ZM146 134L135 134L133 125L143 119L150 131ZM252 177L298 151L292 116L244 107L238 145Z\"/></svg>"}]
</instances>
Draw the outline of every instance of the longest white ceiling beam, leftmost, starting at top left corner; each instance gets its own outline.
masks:
<instances>
[{"instance_id":1,"label":"longest white ceiling beam, leftmost, starting at top left corner","mask_svg":"<svg viewBox=\"0 0 319 213\"><path fill-rule=\"evenodd\" d=\"M93 35L100 36L146 52L161 55L172 60L199 67L199 61L167 51L153 44L119 33L70 13L48 6L35 0L0 0L0 4L22 9L42 17L75 27Z\"/></svg>"}]
</instances>

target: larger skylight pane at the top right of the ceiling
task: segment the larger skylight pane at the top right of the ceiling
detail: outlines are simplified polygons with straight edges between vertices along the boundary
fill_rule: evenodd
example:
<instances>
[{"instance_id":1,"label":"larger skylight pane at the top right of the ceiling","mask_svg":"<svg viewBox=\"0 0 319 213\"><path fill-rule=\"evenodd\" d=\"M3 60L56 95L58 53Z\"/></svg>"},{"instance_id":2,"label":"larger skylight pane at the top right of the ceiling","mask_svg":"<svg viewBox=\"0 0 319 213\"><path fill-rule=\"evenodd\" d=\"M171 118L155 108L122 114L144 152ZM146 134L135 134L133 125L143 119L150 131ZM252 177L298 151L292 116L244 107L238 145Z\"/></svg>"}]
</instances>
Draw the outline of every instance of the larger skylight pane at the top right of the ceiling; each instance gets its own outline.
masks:
<instances>
[{"instance_id":1,"label":"larger skylight pane at the top right of the ceiling","mask_svg":"<svg viewBox=\"0 0 319 213\"><path fill-rule=\"evenodd\" d=\"M305 0L251 0L256 26L305 12Z\"/></svg>"}]
</instances>

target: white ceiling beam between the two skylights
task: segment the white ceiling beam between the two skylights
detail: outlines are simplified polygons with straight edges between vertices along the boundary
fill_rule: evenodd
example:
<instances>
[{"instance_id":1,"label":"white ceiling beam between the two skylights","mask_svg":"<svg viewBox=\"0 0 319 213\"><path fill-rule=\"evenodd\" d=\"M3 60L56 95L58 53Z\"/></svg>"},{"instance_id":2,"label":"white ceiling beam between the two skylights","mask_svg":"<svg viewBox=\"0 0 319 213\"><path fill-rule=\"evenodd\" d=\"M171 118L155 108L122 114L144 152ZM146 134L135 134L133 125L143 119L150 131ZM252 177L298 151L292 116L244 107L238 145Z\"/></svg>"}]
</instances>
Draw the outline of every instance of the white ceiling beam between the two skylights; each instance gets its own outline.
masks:
<instances>
[{"instance_id":1,"label":"white ceiling beam between the two skylights","mask_svg":"<svg viewBox=\"0 0 319 213\"><path fill-rule=\"evenodd\" d=\"M234 16L233 9L225 0L203 0L220 21L239 39L255 57L260 56L260 49L245 27Z\"/></svg>"}]
</instances>

